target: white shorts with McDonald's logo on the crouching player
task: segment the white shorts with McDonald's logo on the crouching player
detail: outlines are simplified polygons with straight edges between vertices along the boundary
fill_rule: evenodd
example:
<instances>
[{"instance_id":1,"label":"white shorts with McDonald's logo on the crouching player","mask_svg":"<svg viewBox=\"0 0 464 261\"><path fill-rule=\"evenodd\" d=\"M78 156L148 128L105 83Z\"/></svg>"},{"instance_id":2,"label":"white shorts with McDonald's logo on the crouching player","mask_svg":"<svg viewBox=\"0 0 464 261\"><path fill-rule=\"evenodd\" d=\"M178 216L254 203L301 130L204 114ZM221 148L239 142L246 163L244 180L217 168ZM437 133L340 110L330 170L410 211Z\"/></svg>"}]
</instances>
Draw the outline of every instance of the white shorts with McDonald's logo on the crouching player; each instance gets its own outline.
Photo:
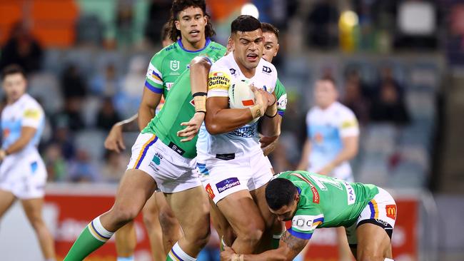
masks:
<instances>
[{"instance_id":1,"label":"white shorts with McDonald's logo on the crouching player","mask_svg":"<svg viewBox=\"0 0 464 261\"><path fill-rule=\"evenodd\" d=\"M370 200L353 225L346 228L346 236L350 247L355 247L358 244L356 237L356 228L364 223L371 223L382 227L390 237L395 227L397 215L396 203L390 193L382 188L378 188L378 194Z\"/></svg>"}]
</instances>

